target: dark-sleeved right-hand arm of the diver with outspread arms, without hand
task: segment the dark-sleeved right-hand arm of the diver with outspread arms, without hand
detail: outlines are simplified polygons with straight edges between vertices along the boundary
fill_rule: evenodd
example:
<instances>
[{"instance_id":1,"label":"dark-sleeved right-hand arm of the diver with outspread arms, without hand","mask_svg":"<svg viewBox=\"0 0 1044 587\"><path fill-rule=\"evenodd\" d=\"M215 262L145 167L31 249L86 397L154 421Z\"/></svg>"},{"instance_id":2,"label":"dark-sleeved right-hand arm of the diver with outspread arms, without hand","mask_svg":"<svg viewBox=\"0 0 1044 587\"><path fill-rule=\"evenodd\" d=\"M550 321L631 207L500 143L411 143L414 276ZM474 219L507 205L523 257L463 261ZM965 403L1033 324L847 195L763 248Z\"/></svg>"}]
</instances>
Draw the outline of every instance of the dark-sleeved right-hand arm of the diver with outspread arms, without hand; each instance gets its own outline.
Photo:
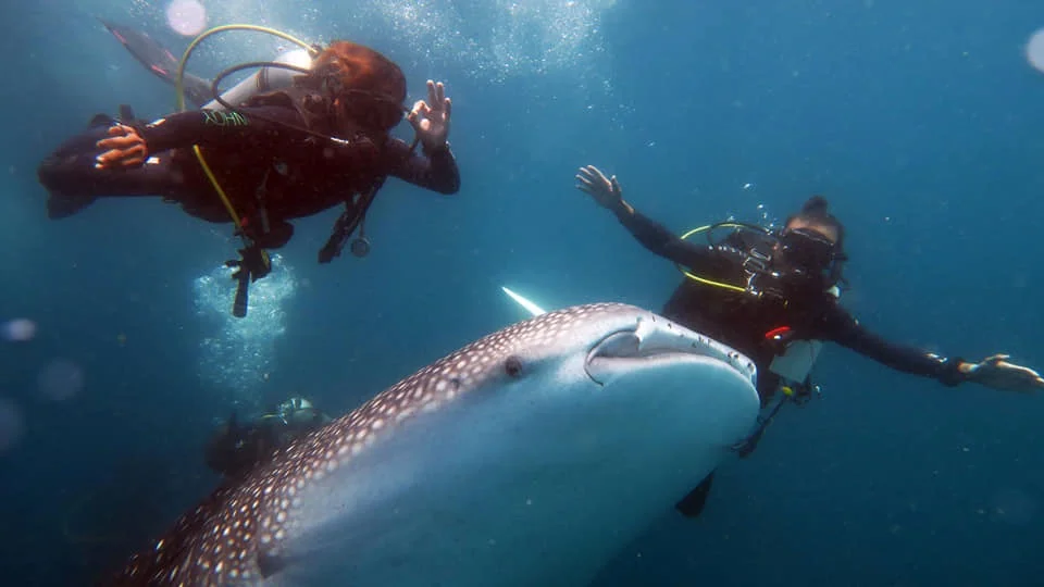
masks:
<instances>
[{"instance_id":1,"label":"dark-sleeved right-hand arm of the diver with outspread arms, without hand","mask_svg":"<svg viewBox=\"0 0 1044 587\"><path fill-rule=\"evenodd\" d=\"M826 338L896 371L932 377L950 387L968 380L971 363L887 341L865 328L840 305L828 319L828 330Z\"/></svg>"}]
</instances>

